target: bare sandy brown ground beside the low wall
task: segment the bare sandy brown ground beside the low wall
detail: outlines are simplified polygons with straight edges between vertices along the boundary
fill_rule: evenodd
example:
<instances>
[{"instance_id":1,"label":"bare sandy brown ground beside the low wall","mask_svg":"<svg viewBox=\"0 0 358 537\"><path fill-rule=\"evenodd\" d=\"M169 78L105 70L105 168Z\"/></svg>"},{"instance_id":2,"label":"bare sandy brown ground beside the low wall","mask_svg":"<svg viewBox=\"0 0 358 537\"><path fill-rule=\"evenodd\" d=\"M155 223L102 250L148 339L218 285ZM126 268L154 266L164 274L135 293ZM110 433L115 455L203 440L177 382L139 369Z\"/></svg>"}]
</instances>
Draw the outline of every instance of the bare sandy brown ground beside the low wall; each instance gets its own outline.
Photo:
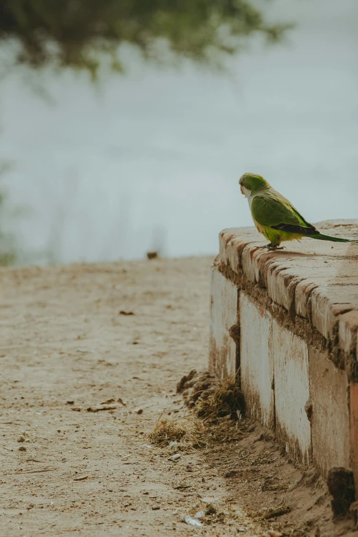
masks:
<instances>
[{"instance_id":1,"label":"bare sandy brown ground beside the low wall","mask_svg":"<svg viewBox=\"0 0 358 537\"><path fill-rule=\"evenodd\" d=\"M259 431L177 462L147 437L206 367L211 261L1 271L1 536L333 534L322 488ZM182 522L211 503L216 523Z\"/></svg>"}]
</instances>

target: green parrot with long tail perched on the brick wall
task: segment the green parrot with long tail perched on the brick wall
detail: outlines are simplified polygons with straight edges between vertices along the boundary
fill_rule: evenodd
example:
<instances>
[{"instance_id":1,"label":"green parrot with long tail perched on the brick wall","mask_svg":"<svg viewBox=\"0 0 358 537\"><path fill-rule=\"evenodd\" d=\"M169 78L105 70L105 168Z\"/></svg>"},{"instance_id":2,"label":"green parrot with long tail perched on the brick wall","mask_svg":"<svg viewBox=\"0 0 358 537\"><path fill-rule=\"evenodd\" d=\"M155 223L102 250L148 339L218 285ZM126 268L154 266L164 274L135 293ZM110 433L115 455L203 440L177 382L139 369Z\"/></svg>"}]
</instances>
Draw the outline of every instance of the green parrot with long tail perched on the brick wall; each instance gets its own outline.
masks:
<instances>
[{"instance_id":1,"label":"green parrot with long tail perched on the brick wall","mask_svg":"<svg viewBox=\"0 0 358 537\"><path fill-rule=\"evenodd\" d=\"M320 241L358 242L322 235L298 213L289 200L259 175L243 174L239 185L241 193L248 198L257 230L270 241L267 244L268 250L277 250L281 242L299 240L302 237Z\"/></svg>"}]
</instances>

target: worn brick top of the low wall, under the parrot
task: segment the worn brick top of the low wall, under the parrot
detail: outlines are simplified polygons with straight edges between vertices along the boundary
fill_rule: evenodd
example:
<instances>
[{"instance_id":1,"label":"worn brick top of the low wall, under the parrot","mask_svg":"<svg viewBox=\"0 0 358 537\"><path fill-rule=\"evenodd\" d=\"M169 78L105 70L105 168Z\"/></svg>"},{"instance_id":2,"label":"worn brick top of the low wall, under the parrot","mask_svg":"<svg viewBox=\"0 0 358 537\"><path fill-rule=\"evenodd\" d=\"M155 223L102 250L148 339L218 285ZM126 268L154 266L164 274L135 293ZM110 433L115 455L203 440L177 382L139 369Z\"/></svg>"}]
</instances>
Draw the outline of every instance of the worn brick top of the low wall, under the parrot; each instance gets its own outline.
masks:
<instances>
[{"instance_id":1,"label":"worn brick top of the low wall, under the parrot","mask_svg":"<svg viewBox=\"0 0 358 537\"><path fill-rule=\"evenodd\" d=\"M358 220L315 224L322 232L358 239ZM277 304L307 319L344 353L355 356L358 329L358 244L302 239L276 252L256 228L220 233L220 258L237 274L267 289ZM338 339L337 339L338 338Z\"/></svg>"}]
</instances>

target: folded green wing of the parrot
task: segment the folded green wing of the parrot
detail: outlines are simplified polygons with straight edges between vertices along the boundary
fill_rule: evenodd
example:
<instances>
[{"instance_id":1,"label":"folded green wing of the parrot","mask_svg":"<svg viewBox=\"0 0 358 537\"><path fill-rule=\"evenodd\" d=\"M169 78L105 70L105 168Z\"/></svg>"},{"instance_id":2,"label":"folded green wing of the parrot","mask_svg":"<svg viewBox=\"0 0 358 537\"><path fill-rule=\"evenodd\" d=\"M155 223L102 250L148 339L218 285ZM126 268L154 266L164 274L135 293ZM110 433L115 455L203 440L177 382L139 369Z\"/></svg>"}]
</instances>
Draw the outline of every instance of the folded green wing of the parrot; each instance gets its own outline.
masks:
<instances>
[{"instance_id":1,"label":"folded green wing of the parrot","mask_svg":"<svg viewBox=\"0 0 358 537\"><path fill-rule=\"evenodd\" d=\"M306 222L288 200L278 198L276 193L256 195L252 200L251 211L256 222L261 226L300 235L312 235L313 232L317 232L315 227Z\"/></svg>"}]
</instances>

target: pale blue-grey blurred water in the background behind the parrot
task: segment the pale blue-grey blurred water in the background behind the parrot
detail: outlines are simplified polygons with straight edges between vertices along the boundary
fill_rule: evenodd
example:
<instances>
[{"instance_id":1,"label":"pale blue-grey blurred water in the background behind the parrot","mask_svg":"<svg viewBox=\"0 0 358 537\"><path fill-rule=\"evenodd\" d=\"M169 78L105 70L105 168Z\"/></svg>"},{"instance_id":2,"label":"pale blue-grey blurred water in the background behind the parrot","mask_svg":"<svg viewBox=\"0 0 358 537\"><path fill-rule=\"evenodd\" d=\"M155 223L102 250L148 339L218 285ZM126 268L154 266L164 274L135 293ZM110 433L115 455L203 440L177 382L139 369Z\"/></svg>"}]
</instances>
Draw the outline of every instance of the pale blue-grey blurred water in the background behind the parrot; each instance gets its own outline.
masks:
<instances>
[{"instance_id":1,"label":"pale blue-grey blurred water in the background behind the parrot","mask_svg":"<svg viewBox=\"0 0 358 537\"><path fill-rule=\"evenodd\" d=\"M237 181L263 174L311 222L358 217L358 4L276 0L298 23L259 40L231 74L161 71L139 60L97 92L45 77L49 106L9 76L0 86L0 158L28 252L53 261L217 251L222 228L251 225Z\"/></svg>"}]
</instances>

